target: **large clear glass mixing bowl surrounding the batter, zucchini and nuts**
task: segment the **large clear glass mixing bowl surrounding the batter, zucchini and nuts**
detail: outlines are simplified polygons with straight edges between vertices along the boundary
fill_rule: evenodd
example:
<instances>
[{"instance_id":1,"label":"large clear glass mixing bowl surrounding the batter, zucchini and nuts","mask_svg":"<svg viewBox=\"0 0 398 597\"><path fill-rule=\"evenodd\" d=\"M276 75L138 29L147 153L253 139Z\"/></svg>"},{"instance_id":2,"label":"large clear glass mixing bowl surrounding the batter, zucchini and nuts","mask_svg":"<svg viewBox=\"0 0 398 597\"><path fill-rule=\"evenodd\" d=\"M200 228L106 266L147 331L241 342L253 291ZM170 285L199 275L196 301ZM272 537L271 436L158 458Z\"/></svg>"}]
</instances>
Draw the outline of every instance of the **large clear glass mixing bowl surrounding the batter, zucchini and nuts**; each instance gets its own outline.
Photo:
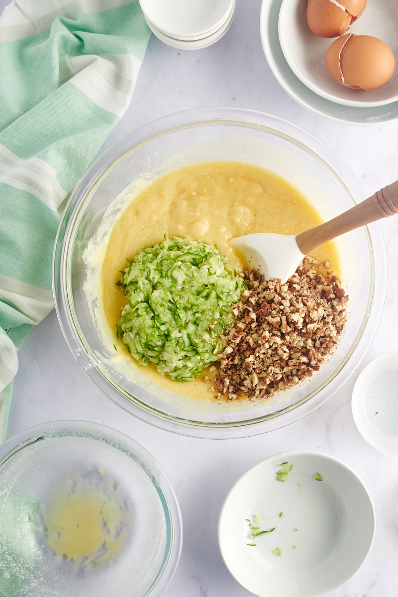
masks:
<instances>
[{"instance_id":1,"label":"large clear glass mixing bowl surrounding the batter, zucchini and nuts","mask_svg":"<svg viewBox=\"0 0 398 597\"><path fill-rule=\"evenodd\" d=\"M362 361L377 330L386 285L384 243L377 223L336 239L349 316L337 350L304 383L263 402L217 404L187 399L129 371L106 337L100 266L89 268L87 247L104 247L121 213L126 187L198 162L229 160L259 165L300 190L329 220L366 194L343 161L291 122L246 109L187 110L150 122L108 149L70 196L54 250L55 307L63 334L91 380L128 413L163 429L205 438L263 433L298 420L331 398ZM132 185L132 186L131 186ZM141 186L140 186L141 185ZM88 279L97 284L88 300ZM120 357L120 355L119 355Z\"/></svg>"}]
</instances>

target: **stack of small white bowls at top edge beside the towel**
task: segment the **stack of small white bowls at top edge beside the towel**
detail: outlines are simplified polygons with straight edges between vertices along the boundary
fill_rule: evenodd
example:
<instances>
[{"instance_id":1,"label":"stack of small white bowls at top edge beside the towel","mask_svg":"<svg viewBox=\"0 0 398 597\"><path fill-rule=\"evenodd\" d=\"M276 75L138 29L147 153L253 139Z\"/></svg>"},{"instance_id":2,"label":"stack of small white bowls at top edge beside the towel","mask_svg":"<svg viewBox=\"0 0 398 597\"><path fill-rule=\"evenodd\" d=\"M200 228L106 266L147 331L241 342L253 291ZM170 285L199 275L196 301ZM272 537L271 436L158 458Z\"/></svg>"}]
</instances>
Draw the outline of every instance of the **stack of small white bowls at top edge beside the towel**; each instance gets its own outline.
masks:
<instances>
[{"instance_id":1,"label":"stack of small white bowls at top edge beside the towel","mask_svg":"<svg viewBox=\"0 0 398 597\"><path fill-rule=\"evenodd\" d=\"M152 32L178 50L214 44L230 28L235 0L140 0Z\"/></svg>"}]
</instances>

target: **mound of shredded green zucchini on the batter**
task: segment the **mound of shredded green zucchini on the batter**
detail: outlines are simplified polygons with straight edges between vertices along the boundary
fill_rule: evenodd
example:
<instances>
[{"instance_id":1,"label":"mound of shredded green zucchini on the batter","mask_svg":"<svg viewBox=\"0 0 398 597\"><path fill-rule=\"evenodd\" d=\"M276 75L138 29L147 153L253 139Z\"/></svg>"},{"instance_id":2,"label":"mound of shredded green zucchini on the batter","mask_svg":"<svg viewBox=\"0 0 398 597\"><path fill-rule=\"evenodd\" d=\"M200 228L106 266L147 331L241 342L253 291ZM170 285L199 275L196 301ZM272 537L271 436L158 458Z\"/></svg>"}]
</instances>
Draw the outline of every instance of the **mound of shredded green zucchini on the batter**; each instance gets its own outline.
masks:
<instances>
[{"instance_id":1,"label":"mound of shredded green zucchini on the batter","mask_svg":"<svg viewBox=\"0 0 398 597\"><path fill-rule=\"evenodd\" d=\"M212 245L177 237L139 251L118 282L129 301L117 335L141 365L189 381L218 360L243 290L226 263Z\"/></svg>"}]
</instances>

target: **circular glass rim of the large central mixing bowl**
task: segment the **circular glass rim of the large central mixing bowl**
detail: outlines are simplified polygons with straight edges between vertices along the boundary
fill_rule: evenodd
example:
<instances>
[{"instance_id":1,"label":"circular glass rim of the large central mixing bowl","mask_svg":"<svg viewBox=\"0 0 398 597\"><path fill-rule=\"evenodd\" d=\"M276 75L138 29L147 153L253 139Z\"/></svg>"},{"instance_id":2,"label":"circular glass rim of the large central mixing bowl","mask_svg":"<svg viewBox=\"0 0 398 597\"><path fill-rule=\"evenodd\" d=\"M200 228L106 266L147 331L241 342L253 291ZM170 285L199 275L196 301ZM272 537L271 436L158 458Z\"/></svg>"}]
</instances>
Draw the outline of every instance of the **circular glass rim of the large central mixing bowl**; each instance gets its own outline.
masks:
<instances>
[{"instance_id":1,"label":"circular glass rim of the large central mixing bowl","mask_svg":"<svg viewBox=\"0 0 398 597\"><path fill-rule=\"evenodd\" d=\"M161 411L156 410L152 407L147 407L140 402L133 403L127 396L123 395L119 390L109 384L109 379L105 379L103 373L99 370L95 362L92 362L88 355L81 355L81 349L85 347L82 345L82 341L78 336L75 328L70 321L70 308L67 303L67 297L65 292L59 292L59 285L64 284L62 275L66 275L67 272L67 247L65 242L69 239L71 231L73 229L73 223L78 216L79 210L81 210L84 204L84 197L90 190L95 181L98 181L103 177L108 170L115 167L119 163L127 152L139 149L144 144L156 138L156 136L164 136L166 133L171 131L185 130L187 128L193 128L198 125L217 125L217 124L237 124L244 127L253 127L256 130L259 128L266 129L271 133L277 134L285 139L293 141L295 144L304 148L308 153L313 155L317 160L321 161L329 170L332 171L334 176L341 181L343 187L347 190L348 195L353 199L353 204L356 203L352 194L347 189L348 181L354 183L356 191L362 193L363 198L366 197L365 190L359 183L357 178L354 176L348 166L341 160L341 158L330 149L323 141L319 140L316 136L309 133L304 128L297 124L294 124L286 119L282 119L279 116L274 116L266 112L260 112L258 110L251 110L237 107L206 107L199 109L184 110L183 112L172 113L166 116L162 116L154 121L142 125L136 130L128 133L122 137L119 141L116 141L112 146L109 147L99 158L91 165L87 172L82 176L81 180L76 184L75 189L70 195L70 199L64 210L63 217L58 227L57 236L54 244L53 254L53 293L55 310L57 312L58 321L60 323L61 330L64 337L66 338L67 344L69 344L73 355L79 364L84 368L85 373L91 380L110 398L115 404L123 408L130 414L137 416L141 420L147 423L153 424L156 427L162 429L171 430L173 432L182 433L183 435L189 435L194 437L202 437L209 439L223 439L225 433L228 433L228 437L243 437L252 436L263 433L266 430L278 429L279 427L285 426L286 424L292 423L303 416L313 412L321 404L326 402L332 395L334 395L340 387L347 381L349 377L354 373L357 366L362 361L366 352L368 351L369 345L376 333L378 324L381 318L382 305L384 304L385 290L387 284L387 273L386 273L386 257L384 250L384 242L382 240L381 230L378 223L371 224L372 236L369 233L368 227L368 243L369 252L371 254L376 253L378 262L380 261L380 267L377 271L372 268L373 284L371 297L369 298L368 304L368 318L363 323L362 337L359 338L355 346L356 362L353 362L351 354L354 348L348 353L347 360L344 364L345 373L347 376L340 375L328 382L323 390L317 392L316 396L312 396L312 399L308 398L302 404L299 404L295 408L291 408L287 411L280 411L278 416L273 418L251 418L248 421L239 421L239 423L200 423L200 421L190 421L186 418L169 418L165 416ZM294 133L294 137L292 134ZM312 149L311 145L317 144L317 149ZM115 152L118 158L114 159L111 164L107 162L107 156L109 152ZM327 161L326 161L327 158ZM337 174L335 168L340 172ZM79 202L79 197L81 197ZM63 272L63 274L62 274ZM375 279L377 278L377 279ZM59 294L59 296L58 296ZM369 325L366 325L371 315L375 319L375 325L372 329L369 329ZM344 377L344 378L343 378ZM104 383L106 387L104 387ZM112 387L112 395L107 390ZM113 391L115 390L115 391ZM317 398L317 399L316 399ZM283 415L283 421L281 421L281 415ZM263 425L261 425L263 423ZM268 427L263 429L264 423ZM227 431L226 431L227 430ZM220 433L219 433L220 432Z\"/></svg>"}]
</instances>

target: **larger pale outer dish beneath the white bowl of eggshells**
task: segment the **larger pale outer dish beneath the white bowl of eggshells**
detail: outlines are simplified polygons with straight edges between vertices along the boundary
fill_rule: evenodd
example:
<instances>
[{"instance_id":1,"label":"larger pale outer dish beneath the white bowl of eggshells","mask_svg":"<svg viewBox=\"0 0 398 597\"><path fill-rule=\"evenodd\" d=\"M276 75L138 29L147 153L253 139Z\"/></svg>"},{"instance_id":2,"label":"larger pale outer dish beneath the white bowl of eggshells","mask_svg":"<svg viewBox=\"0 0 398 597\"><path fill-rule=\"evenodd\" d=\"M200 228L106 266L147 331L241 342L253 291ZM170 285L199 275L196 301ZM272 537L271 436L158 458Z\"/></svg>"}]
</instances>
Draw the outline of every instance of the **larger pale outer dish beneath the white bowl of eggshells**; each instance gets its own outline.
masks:
<instances>
[{"instance_id":1,"label":"larger pale outer dish beneath the white bowl of eggshells","mask_svg":"<svg viewBox=\"0 0 398 597\"><path fill-rule=\"evenodd\" d=\"M337 122L380 125L381 122L398 118L398 101L387 106L345 106L314 93L304 85L292 71L280 47L278 20L281 5L282 0L263 0L260 12L261 44L271 72L294 101L310 112Z\"/></svg>"}]
</instances>

